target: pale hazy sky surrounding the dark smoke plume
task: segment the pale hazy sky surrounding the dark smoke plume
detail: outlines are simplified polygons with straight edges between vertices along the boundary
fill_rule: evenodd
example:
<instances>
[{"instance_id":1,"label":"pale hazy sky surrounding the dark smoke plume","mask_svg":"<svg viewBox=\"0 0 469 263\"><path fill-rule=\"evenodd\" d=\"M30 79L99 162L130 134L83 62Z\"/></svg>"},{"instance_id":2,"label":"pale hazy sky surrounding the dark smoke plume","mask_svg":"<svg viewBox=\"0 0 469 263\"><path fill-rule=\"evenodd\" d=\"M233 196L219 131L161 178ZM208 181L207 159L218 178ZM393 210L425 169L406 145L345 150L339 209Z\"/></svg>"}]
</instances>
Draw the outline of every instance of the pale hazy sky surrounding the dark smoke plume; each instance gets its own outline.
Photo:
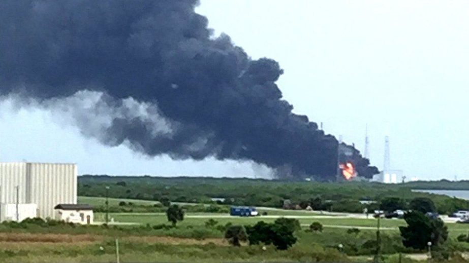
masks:
<instances>
[{"instance_id":1,"label":"pale hazy sky surrounding the dark smoke plume","mask_svg":"<svg viewBox=\"0 0 469 263\"><path fill-rule=\"evenodd\" d=\"M469 2L202 0L214 37L231 36L254 59L277 60L277 84L297 114L323 122L383 167L408 178L469 179ZM80 174L269 177L252 162L148 158L107 147L60 112L0 102L0 161L72 162Z\"/></svg>"}]
</instances>

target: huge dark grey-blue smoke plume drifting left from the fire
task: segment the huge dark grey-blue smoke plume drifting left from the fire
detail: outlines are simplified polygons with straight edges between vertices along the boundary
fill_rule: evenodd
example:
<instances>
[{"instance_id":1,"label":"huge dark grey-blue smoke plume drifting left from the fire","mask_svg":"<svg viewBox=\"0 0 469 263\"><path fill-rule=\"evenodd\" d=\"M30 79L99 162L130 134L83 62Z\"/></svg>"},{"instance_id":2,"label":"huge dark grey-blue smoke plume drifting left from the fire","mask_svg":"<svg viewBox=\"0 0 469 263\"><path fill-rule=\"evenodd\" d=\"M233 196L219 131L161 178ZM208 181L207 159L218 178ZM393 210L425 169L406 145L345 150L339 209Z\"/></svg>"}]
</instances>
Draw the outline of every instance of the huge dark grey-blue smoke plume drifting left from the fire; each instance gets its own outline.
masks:
<instances>
[{"instance_id":1,"label":"huge dark grey-blue smoke plume drifting left from the fire","mask_svg":"<svg viewBox=\"0 0 469 263\"><path fill-rule=\"evenodd\" d=\"M0 91L73 111L85 135L149 156L334 179L337 140L292 113L278 63L252 60L228 35L212 39L197 4L3 0ZM353 159L362 176L377 172L356 150Z\"/></svg>"}]
</instances>

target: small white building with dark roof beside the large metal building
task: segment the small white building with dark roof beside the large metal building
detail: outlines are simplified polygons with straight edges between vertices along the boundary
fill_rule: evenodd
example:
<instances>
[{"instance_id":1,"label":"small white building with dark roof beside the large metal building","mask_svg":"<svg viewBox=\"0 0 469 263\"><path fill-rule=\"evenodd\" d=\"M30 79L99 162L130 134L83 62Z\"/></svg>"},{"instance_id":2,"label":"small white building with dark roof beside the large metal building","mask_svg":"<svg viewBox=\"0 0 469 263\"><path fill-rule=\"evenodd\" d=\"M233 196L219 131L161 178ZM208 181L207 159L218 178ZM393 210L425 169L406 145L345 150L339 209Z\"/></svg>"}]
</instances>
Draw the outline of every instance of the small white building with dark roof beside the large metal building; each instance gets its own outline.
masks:
<instances>
[{"instance_id":1,"label":"small white building with dark roof beside the large metal building","mask_svg":"<svg viewBox=\"0 0 469 263\"><path fill-rule=\"evenodd\" d=\"M54 207L55 219L78 224L93 223L93 208L86 204L58 204Z\"/></svg>"}]
</instances>

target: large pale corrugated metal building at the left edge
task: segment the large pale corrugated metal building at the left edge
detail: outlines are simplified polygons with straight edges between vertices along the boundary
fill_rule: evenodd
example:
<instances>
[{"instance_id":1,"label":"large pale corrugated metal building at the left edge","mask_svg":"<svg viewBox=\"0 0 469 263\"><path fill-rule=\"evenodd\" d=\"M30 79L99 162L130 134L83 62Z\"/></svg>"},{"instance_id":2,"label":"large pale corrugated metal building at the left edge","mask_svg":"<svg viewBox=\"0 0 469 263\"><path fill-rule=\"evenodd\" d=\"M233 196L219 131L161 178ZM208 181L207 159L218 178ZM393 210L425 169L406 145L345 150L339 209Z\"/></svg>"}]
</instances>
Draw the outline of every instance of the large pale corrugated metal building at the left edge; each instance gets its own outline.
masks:
<instances>
[{"instance_id":1,"label":"large pale corrugated metal building at the left edge","mask_svg":"<svg viewBox=\"0 0 469 263\"><path fill-rule=\"evenodd\" d=\"M58 204L77 204L77 165L0 163L0 221L55 218Z\"/></svg>"}]
</instances>

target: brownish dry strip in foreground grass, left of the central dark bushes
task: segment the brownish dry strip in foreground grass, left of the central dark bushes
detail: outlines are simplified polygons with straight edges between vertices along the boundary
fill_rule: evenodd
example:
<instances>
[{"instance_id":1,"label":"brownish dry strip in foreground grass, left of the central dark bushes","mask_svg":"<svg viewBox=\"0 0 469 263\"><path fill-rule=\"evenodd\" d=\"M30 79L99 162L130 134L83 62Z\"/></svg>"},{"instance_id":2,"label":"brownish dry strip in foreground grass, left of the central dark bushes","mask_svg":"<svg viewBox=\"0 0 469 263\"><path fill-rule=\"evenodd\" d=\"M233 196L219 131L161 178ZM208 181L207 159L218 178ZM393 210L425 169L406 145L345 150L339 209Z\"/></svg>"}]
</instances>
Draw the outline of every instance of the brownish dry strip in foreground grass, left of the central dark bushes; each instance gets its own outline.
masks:
<instances>
[{"instance_id":1,"label":"brownish dry strip in foreground grass, left of the central dark bushes","mask_svg":"<svg viewBox=\"0 0 469 263\"><path fill-rule=\"evenodd\" d=\"M174 238L174 237L125 237L122 238L124 241L130 241L135 243L162 243L171 245L207 245L213 243L217 246L229 246L228 242L221 238L207 238L203 240L191 239L191 238Z\"/></svg>"}]
</instances>

